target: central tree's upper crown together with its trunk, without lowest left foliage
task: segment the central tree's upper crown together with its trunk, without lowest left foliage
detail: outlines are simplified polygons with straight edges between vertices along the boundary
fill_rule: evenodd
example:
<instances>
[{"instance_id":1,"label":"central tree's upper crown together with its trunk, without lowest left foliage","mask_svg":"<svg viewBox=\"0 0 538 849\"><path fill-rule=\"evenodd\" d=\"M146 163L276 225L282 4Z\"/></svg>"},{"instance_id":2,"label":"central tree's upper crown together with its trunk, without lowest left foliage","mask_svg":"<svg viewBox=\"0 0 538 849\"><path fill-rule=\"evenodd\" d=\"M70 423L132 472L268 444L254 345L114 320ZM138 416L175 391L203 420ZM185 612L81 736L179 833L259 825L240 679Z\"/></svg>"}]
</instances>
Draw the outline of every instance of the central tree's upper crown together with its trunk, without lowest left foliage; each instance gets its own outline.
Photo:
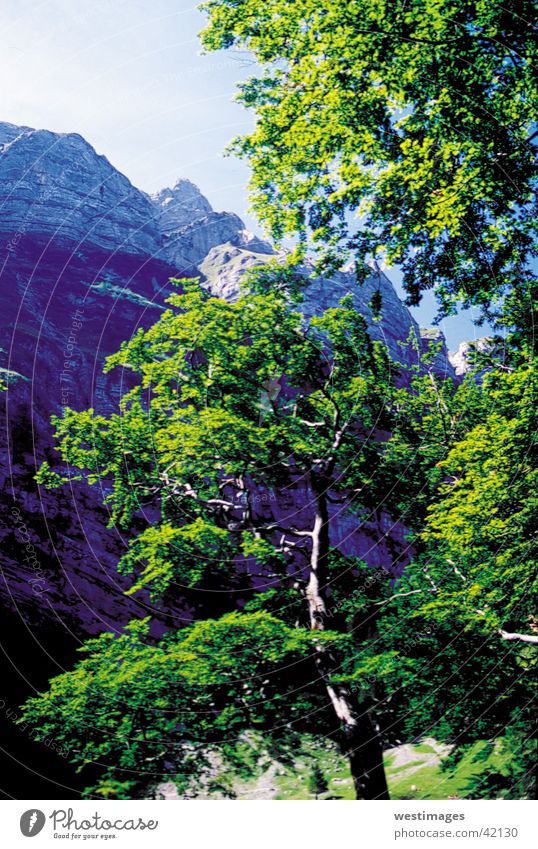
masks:
<instances>
[{"instance_id":1,"label":"central tree's upper crown together with its trunk, without lowest left foliage","mask_svg":"<svg viewBox=\"0 0 538 849\"><path fill-rule=\"evenodd\" d=\"M247 609L310 629L314 692L321 682L357 798L386 798L379 729L338 675L347 638L331 636L330 592L345 594L358 564L332 551L330 527L334 500L357 523L379 503L394 367L349 298L307 326L283 291L231 304L183 286L176 309L107 363L134 375L120 413L55 419L62 458L71 479L101 483L112 523L150 512L120 563L130 592L182 594L207 618L225 614L233 593L252 593L257 576L265 592ZM39 480L66 479L45 464ZM298 484L302 510L268 513L273 491Z\"/></svg>"}]
</instances>

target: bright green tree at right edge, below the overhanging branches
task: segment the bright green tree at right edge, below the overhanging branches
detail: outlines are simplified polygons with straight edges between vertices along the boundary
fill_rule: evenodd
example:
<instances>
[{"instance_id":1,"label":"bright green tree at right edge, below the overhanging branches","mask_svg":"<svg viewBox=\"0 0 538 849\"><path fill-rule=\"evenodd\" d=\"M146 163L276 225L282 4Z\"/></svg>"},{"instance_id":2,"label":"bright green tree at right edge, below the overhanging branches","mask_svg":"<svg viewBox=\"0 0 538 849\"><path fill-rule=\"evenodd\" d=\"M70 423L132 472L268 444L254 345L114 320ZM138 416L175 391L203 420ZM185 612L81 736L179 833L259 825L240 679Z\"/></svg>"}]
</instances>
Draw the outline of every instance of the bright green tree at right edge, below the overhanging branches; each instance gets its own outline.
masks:
<instances>
[{"instance_id":1,"label":"bright green tree at right edge, below the overhanging branches","mask_svg":"<svg viewBox=\"0 0 538 849\"><path fill-rule=\"evenodd\" d=\"M488 741L471 798L535 792L537 382L519 359L484 376L482 414L439 462L414 561L352 662L381 721L397 701L405 736L456 746L450 766Z\"/></svg>"}]
</instances>

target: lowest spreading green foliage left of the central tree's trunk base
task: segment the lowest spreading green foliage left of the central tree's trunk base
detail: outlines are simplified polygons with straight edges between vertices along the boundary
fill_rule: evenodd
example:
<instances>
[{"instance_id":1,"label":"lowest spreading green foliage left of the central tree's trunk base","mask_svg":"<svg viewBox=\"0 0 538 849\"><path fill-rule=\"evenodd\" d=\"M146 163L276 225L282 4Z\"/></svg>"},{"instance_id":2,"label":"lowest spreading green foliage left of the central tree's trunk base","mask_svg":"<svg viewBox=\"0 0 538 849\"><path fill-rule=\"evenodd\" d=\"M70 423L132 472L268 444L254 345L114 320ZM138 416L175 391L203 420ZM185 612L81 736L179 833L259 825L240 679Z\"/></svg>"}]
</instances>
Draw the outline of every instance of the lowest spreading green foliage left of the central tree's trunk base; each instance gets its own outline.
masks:
<instances>
[{"instance_id":1,"label":"lowest spreading green foliage left of the central tree's trunk base","mask_svg":"<svg viewBox=\"0 0 538 849\"><path fill-rule=\"evenodd\" d=\"M306 689L311 635L266 613L231 613L158 642L149 620L131 622L81 651L18 722L97 772L89 795L133 798L170 778L183 793L194 779L211 788L216 764L235 764L247 730L263 731L265 748L280 753L294 720L320 709L315 688Z\"/></svg>"}]
</instances>

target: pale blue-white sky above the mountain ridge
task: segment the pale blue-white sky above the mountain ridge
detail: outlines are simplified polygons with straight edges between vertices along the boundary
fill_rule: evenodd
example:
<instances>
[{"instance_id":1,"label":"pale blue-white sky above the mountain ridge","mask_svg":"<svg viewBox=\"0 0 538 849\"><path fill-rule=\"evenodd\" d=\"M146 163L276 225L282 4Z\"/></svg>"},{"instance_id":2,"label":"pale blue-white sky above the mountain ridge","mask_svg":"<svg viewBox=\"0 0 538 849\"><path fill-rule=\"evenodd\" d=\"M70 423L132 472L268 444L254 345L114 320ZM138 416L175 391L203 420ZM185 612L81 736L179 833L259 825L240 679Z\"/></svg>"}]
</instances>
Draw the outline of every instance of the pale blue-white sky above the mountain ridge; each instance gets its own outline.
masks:
<instances>
[{"instance_id":1,"label":"pale blue-white sky above the mountain ridge","mask_svg":"<svg viewBox=\"0 0 538 849\"><path fill-rule=\"evenodd\" d=\"M252 125L234 102L252 69L244 54L202 55L203 24L186 0L2 0L0 120L78 132L145 191L188 177L256 229L248 169L223 156ZM432 299L413 312L430 324ZM484 334L463 316L441 327L451 348Z\"/></svg>"}]
</instances>

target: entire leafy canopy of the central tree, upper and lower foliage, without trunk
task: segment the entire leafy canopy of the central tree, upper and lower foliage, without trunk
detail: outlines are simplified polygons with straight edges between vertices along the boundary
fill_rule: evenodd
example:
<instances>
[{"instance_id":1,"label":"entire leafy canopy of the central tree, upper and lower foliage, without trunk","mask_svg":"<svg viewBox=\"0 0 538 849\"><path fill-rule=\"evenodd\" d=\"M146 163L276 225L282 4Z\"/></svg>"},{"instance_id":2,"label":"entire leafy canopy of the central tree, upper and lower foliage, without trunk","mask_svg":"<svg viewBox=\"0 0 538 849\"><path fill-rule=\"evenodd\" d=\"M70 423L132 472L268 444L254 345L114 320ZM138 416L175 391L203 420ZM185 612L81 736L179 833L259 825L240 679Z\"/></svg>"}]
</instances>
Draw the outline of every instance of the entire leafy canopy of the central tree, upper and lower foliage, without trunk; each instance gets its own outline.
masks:
<instances>
[{"instance_id":1,"label":"entire leafy canopy of the central tree, upper and lower foliage, without trunk","mask_svg":"<svg viewBox=\"0 0 538 849\"><path fill-rule=\"evenodd\" d=\"M68 409L55 420L74 476L99 483L111 522L136 531L120 563L133 575L131 591L147 586L158 597L187 598L203 619L164 645L143 646L140 657L128 637L104 636L91 644L87 661L27 708L31 722L52 723L49 732L73 713L65 742L76 759L101 764L114 782L147 758L176 763L193 746L207 749L212 742L225 753L227 741L238 742L249 728L266 728L269 739L273 728L281 742L296 729L335 733L331 673L320 675L313 655L329 658L327 644L345 651L348 640L327 627L315 639L309 632L305 595L312 567L305 568L304 558L311 563L313 532L295 527L295 511L275 520L259 495L315 479L323 481L320 497L352 485L357 494L366 491L359 503L368 503L385 442L375 434L387 427L394 396L386 352L370 340L349 299L307 324L284 291L230 304L196 281L183 286L170 298L173 309L109 359L108 369L120 367L131 380L119 413ZM46 464L38 479L62 483ZM311 552L301 548L305 537ZM356 563L328 551L324 559L337 572L333 580L355 580ZM264 579L261 586L253 584L255 575ZM325 582L325 569L318 580ZM236 605L235 589L249 600L241 614L227 614ZM219 618L208 621L212 610ZM171 657L176 640L180 655ZM92 664L102 661L92 679ZM265 676L272 671L278 689L266 704L272 679ZM108 698L118 701L116 710L94 704L92 680L102 698L101 679ZM175 705L169 720L150 704L151 693L160 703L168 687ZM245 704L245 688L254 702ZM197 719L199 704L207 721ZM99 721L86 740L83 720L93 713ZM129 729L144 725L141 738L135 734L121 754L124 717ZM159 754L163 734L175 742ZM155 745L145 754L148 740ZM193 764L193 778L200 780L203 763Z\"/></svg>"}]
</instances>

